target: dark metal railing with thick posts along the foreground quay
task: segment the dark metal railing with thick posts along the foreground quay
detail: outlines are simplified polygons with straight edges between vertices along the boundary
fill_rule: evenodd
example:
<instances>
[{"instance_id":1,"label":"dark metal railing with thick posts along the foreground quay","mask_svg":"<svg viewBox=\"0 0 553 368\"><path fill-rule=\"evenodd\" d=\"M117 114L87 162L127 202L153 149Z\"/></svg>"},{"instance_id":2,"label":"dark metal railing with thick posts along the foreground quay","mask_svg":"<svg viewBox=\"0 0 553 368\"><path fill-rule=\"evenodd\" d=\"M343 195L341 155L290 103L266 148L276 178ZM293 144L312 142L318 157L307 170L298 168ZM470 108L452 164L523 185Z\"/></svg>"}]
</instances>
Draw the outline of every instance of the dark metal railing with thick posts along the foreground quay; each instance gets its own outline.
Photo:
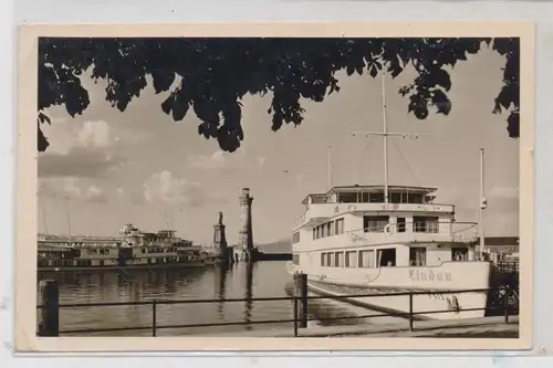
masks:
<instances>
[{"instance_id":1,"label":"dark metal railing with thick posts along the foreground quay","mask_svg":"<svg viewBox=\"0 0 553 368\"><path fill-rule=\"evenodd\" d=\"M60 303L60 293L58 283L54 280L43 280L40 282L42 304L36 308L40 311L38 320L38 335L39 336L60 336L60 335L80 335L80 334L97 334L97 333L121 333L121 332L150 332L152 336L157 336L159 330L164 329L182 329L182 328L198 328L198 327L221 327L221 326L246 326L246 325L270 325L270 324L292 324L293 336L300 336L300 329L305 330L307 323L311 320L325 322L325 320L345 320L345 319L364 319L364 318L378 318L378 317L399 317L408 320L408 329L416 332L415 322L427 319L428 315L436 314L456 314L466 312L483 311L488 317L495 316L502 317L504 324L517 323L512 316L518 315L519 311L519 291L518 288L500 287L500 288L467 288L467 290L451 290L451 291L413 291L389 294L352 294L352 295L307 295L307 276L303 273L294 274L294 287L291 296L276 296L276 297L246 297L246 298L198 298L198 299L150 299L139 302L105 302L105 303ZM462 305L457 303L457 296L465 293L486 293L488 295L488 303L483 307L463 308ZM430 309L418 311L416 307L416 296L428 295L445 298L448 301L446 309ZM493 297L490 297L492 295ZM408 298L408 312L386 312L367 315L354 316L334 316L321 317L312 316L310 314L311 301L328 299L328 301L347 301L352 298L371 298L371 297L400 297ZM255 302L291 302L292 318L281 319L260 319L260 320L237 320L237 322L219 322L219 323L196 323L196 324L173 324L160 325L157 318L158 308L160 306L173 306L184 304L210 304L210 303L255 303ZM491 302L490 302L491 301ZM152 323L147 326L122 326L108 328L69 328L60 329L60 312L61 309L74 308L101 308L101 307L122 307L122 306L149 306L152 309ZM487 317L483 317L487 318ZM478 318L481 322L480 318ZM444 322L444 320L441 320ZM452 319L451 323L459 323L460 326L467 327L463 324L463 318ZM500 323L500 322L497 322ZM447 326L455 327L455 325ZM430 328L430 327L427 327ZM436 328L436 327L434 327ZM425 327L420 327L421 330Z\"/></svg>"}]
</instances>

